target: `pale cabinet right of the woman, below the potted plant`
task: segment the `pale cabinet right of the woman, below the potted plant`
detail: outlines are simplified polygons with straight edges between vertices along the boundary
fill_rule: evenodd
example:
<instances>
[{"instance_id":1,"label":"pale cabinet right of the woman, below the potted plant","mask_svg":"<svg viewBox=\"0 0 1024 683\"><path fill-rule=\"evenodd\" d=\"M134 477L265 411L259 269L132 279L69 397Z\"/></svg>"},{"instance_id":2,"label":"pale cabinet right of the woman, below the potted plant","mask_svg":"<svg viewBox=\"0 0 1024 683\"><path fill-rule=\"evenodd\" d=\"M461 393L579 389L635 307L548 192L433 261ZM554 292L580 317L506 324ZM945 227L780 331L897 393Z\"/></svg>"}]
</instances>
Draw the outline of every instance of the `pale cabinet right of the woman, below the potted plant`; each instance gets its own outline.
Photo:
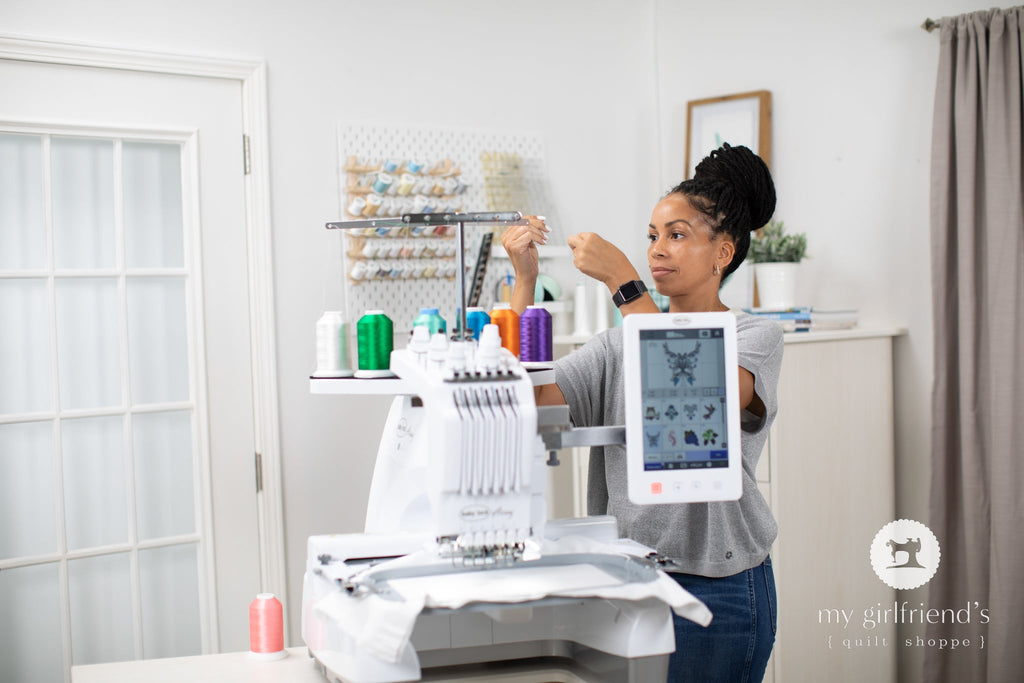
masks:
<instances>
[{"instance_id":1,"label":"pale cabinet right of the woman, below the potted plant","mask_svg":"<svg viewBox=\"0 0 1024 683\"><path fill-rule=\"evenodd\" d=\"M779 527L778 633L766 680L896 680L895 624L864 628L865 609L896 600L869 557L874 535L895 518L895 334L785 336L779 414L758 468ZM849 625L828 623L838 612L823 610L837 609Z\"/></svg>"}]
</instances>

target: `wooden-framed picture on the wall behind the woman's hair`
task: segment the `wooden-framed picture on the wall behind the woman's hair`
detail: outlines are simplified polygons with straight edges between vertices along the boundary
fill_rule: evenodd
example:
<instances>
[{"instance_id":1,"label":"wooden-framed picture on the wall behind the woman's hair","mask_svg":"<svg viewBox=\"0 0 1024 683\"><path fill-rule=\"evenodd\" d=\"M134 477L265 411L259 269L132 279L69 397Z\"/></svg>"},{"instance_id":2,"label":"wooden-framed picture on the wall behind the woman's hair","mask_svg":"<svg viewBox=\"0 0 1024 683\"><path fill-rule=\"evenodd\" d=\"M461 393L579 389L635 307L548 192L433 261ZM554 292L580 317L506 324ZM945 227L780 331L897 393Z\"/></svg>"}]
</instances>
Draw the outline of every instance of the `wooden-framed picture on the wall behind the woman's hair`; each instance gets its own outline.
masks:
<instances>
[{"instance_id":1,"label":"wooden-framed picture on the wall behind the woman's hair","mask_svg":"<svg viewBox=\"0 0 1024 683\"><path fill-rule=\"evenodd\" d=\"M686 103L686 177L723 142L753 150L771 166L771 93L741 92Z\"/></svg>"}]
</instances>

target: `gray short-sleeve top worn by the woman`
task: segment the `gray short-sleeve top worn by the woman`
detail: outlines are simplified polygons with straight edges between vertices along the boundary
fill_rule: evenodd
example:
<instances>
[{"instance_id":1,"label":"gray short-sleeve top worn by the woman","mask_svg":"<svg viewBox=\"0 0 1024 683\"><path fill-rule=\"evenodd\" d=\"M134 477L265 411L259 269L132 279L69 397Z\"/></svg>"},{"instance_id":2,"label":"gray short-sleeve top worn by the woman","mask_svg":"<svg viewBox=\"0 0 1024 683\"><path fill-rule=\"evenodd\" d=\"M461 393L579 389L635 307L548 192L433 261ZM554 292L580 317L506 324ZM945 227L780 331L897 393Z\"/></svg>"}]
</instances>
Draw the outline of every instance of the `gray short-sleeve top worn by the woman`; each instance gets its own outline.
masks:
<instances>
[{"instance_id":1,"label":"gray short-sleeve top worn by the woman","mask_svg":"<svg viewBox=\"0 0 1024 683\"><path fill-rule=\"evenodd\" d=\"M736 348L739 366L754 375L754 390L765 405L763 417L743 411L740 419L743 495L738 501L635 505L627 496L626 449L591 449L588 513L613 515L621 536L654 548L686 573L728 577L757 566L778 530L755 472L778 413L782 330L772 321L739 313ZM625 424L622 328L595 335L557 360L555 381L577 426Z\"/></svg>"}]
</instances>

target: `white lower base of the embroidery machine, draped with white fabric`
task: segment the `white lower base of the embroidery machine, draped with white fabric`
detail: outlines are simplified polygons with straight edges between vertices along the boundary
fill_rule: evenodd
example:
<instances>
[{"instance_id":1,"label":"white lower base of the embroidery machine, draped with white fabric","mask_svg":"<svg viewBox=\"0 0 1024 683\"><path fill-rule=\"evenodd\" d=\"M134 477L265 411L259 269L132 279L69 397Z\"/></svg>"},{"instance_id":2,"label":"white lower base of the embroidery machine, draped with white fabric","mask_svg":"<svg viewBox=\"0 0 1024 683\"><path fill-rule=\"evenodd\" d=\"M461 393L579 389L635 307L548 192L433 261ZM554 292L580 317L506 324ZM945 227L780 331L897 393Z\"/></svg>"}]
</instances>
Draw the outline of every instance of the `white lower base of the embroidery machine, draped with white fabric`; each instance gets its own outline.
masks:
<instances>
[{"instance_id":1,"label":"white lower base of the embroidery machine, draped with white fabric","mask_svg":"<svg viewBox=\"0 0 1024 683\"><path fill-rule=\"evenodd\" d=\"M609 552L623 543L606 543L609 526L555 523L592 538L492 568L413 552L415 536L311 537L303 639L341 683L665 680L672 611L701 624L711 613L651 562Z\"/></svg>"}]
</instances>

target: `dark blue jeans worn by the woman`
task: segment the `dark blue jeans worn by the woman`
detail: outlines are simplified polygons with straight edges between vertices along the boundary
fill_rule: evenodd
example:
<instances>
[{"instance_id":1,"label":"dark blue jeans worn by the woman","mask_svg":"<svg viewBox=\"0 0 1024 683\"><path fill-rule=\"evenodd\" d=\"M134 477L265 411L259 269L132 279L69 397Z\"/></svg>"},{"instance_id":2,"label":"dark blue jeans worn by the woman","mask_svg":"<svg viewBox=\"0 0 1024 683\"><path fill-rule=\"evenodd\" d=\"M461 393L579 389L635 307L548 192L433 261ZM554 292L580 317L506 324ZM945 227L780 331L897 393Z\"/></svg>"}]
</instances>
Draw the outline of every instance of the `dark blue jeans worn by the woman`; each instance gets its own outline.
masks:
<instances>
[{"instance_id":1,"label":"dark blue jeans worn by the woman","mask_svg":"<svg viewBox=\"0 0 1024 683\"><path fill-rule=\"evenodd\" d=\"M708 605L714 615L707 629L672 615L676 651L669 659L669 683L762 680L777 624L771 558L721 579L669 575Z\"/></svg>"}]
</instances>

